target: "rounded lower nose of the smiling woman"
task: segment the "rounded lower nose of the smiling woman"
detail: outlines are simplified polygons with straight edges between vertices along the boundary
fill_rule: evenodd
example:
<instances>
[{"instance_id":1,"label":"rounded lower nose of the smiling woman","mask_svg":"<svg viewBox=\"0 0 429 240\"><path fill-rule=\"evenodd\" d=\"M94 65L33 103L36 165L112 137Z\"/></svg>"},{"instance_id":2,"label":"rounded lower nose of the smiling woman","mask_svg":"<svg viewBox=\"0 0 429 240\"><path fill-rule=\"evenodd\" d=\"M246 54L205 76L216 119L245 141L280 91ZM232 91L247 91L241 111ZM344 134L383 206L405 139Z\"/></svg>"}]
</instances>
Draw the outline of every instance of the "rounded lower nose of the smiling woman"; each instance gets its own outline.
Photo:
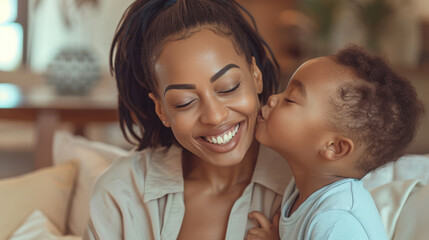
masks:
<instances>
[{"instance_id":1,"label":"rounded lower nose of the smiling woman","mask_svg":"<svg viewBox=\"0 0 429 240\"><path fill-rule=\"evenodd\" d=\"M222 102L207 101L202 106L201 122L210 125L219 125L228 117L229 110Z\"/></svg>"}]
</instances>

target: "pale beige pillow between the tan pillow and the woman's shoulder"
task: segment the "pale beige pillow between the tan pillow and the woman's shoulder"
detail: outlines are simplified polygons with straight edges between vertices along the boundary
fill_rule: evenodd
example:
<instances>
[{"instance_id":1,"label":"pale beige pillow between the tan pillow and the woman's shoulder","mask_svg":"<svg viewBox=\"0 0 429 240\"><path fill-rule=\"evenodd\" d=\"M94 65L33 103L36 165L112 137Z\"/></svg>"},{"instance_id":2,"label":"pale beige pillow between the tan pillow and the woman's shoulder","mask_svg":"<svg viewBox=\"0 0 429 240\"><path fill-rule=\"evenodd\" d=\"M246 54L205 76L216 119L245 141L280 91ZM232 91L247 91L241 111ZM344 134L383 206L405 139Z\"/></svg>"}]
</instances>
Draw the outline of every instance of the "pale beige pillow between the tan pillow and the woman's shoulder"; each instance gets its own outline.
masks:
<instances>
[{"instance_id":1,"label":"pale beige pillow between the tan pillow and the woman's shoulder","mask_svg":"<svg viewBox=\"0 0 429 240\"><path fill-rule=\"evenodd\" d=\"M127 151L101 142L89 141L83 137L73 136L64 131L54 135L54 165L68 161L78 161L74 195L68 219L69 233L81 236L89 219L89 200L92 186L101 174L116 158L124 156Z\"/></svg>"}]
</instances>

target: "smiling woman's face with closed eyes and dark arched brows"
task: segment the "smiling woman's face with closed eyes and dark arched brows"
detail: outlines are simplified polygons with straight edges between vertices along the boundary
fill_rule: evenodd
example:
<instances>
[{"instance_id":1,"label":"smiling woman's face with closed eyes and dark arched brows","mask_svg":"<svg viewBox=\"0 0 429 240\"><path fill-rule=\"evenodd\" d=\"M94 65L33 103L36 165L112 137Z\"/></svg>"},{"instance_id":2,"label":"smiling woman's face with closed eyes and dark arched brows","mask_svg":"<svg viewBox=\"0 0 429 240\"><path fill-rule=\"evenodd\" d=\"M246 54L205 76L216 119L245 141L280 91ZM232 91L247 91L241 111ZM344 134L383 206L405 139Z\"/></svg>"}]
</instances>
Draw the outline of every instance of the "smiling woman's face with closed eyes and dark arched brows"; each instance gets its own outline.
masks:
<instances>
[{"instance_id":1,"label":"smiling woman's face with closed eyes and dark arched brows","mask_svg":"<svg viewBox=\"0 0 429 240\"><path fill-rule=\"evenodd\" d=\"M262 76L232 41L202 29L167 43L155 63L156 112L177 141L214 166L240 163L254 140Z\"/></svg>"}]
</instances>

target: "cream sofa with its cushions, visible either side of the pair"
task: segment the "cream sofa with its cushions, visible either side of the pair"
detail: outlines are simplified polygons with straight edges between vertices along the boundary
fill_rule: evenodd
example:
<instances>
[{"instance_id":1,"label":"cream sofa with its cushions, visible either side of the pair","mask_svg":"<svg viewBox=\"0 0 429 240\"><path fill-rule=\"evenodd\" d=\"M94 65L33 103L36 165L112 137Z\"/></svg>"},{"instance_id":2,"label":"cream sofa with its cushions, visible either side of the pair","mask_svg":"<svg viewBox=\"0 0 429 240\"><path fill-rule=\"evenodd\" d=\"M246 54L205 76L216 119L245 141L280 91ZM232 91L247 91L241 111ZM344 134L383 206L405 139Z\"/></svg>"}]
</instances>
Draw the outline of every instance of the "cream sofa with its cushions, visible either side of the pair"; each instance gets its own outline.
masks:
<instances>
[{"instance_id":1,"label":"cream sofa with its cushions, visible either side of the pair","mask_svg":"<svg viewBox=\"0 0 429 240\"><path fill-rule=\"evenodd\" d=\"M54 166L0 181L0 240L81 239L91 186L127 152L67 132L54 138ZM429 155L408 155L364 178L390 239L428 239Z\"/></svg>"}]
</instances>

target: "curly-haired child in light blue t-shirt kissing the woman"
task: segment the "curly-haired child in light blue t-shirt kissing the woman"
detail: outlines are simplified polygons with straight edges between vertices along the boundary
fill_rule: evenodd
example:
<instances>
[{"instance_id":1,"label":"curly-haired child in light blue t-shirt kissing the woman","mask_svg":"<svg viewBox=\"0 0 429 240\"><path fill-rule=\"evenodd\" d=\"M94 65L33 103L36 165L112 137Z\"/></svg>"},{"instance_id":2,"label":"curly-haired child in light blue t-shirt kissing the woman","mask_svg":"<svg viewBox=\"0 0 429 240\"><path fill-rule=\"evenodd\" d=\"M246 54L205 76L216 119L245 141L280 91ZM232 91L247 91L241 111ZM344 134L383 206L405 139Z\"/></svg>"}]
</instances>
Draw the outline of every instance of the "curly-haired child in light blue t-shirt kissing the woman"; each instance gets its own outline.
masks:
<instances>
[{"instance_id":1,"label":"curly-haired child in light blue t-shirt kissing the woman","mask_svg":"<svg viewBox=\"0 0 429 240\"><path fill-rule=\"evenodd\" d=\"M247 239L387 239L360 179L404 153L422 113L413 86L361 48L304 63L261 109L256 138L294 179L279 223L252 212Z\"/></svg>"}]
</instances>

